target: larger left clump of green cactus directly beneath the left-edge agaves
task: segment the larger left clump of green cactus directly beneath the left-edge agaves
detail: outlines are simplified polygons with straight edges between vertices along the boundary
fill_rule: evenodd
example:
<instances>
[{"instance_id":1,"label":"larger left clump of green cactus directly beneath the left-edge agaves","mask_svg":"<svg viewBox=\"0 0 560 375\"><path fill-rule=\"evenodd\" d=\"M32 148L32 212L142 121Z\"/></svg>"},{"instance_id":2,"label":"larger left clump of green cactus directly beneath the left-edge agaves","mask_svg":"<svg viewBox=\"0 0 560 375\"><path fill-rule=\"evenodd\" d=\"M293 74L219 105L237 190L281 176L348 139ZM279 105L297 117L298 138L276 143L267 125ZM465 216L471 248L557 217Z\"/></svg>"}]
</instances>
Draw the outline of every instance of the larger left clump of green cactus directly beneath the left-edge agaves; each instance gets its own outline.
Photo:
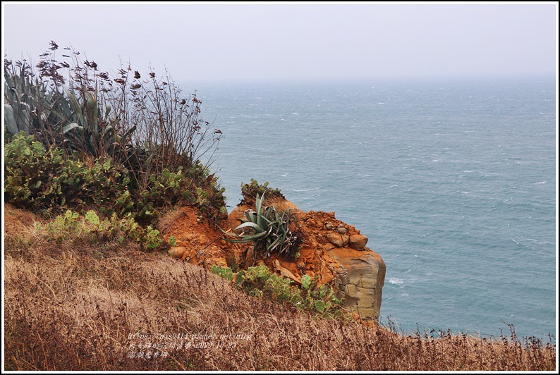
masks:
<instances>
[{"instance_id":1,"label":"larger left clump of green cactus directly beneath the left-edge agaves","mask_svg":"<svg viewBox=\"0 0 560 375\"><path fill-rule=\"evenodd\" d=\"M60 149L45 150L32 135L23 132L4 147L4 171L6 201L16 207L39 213L90 204L120 213L133 207L126 171L111 159L93 165L67 159Z\"/></svg>"}]
</instances>

